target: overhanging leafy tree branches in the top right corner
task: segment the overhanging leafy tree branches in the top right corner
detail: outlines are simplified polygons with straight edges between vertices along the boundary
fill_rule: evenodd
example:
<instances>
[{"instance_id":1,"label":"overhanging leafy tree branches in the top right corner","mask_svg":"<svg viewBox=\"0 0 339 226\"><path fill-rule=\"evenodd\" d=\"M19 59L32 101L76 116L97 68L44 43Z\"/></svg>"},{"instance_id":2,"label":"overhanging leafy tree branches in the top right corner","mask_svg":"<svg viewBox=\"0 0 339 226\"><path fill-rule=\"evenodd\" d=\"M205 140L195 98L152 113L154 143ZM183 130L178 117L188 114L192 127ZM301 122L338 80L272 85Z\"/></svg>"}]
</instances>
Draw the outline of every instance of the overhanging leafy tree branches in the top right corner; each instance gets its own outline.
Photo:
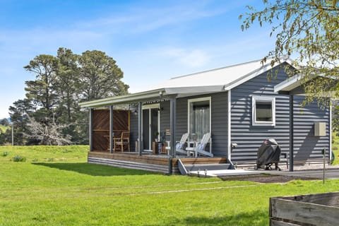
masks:
<instances>
[{"instance_id":1,"label":"overhanging leafy tree branches in the top right corner","mask_svg":"<svg viewBox=\"0 0 339 226\"><path fill-rule=\"evenodd\" d=\"M283 55L295 58L299 78L304 84L307 101L328 105L328 90L339 95L339 6L337 0L263 0L263 8L248 6L239 16L242 30L254 23L268 25L275 47L263 61L271 65ZM291 71L290 76L294 76ZM313 79L314 76L321 77ZM334 80L333 80L334 78Z\"/></svg>"}]
</instances>

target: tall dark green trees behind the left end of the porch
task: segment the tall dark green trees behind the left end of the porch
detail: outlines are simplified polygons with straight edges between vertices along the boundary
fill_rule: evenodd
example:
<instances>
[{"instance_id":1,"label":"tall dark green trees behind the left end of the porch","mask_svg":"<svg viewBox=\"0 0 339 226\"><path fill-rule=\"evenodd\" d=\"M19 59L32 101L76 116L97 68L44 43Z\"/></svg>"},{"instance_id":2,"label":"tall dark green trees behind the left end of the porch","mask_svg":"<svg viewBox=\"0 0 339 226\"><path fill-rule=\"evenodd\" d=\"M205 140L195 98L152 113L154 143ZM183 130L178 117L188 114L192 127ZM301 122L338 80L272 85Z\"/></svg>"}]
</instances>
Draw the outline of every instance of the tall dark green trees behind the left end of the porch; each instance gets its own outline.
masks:
<instances>
[{"instance_id":1,"label":"tall dark green trees behind the left end of the porch","mask_svg":"<svg viewBox=\"0 0 339 226\"><path fill-rule=\"evenodd\" d=\"M97 50L78 55L59 48L57 57L41 54L24 68L35 80L25 82L26 98L9 107L15 145L87 144L88 110L78 103L126 94L129 88L116 61ZM0 144L11 141L7 135L0 134ZM58 141L50 141L52 136Z\"/></svg>"}]
</instances>

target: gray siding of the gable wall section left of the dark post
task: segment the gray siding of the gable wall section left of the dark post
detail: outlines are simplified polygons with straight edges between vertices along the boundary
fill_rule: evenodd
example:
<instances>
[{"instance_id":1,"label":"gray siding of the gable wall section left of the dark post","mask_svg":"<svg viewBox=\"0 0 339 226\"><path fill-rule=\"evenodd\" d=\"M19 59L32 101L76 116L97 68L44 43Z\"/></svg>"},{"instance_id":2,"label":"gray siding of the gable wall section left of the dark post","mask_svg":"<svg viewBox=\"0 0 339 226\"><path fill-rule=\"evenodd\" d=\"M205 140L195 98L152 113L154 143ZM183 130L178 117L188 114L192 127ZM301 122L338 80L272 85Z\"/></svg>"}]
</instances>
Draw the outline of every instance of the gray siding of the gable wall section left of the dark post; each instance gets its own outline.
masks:
<instances>
[{"instance_id":1,"label":"gray siding of the gable wall section left of the dark post","mask_svg":"<svg viewBox=\"0 0 339 226\"><path fill-rule=\"evenodd\" d=\"M290 99L273 92L274 85L286 78L285 72L280 70L277 78L269 82L263 73L231 90L231 141L238 144L232 150L233 162L256 162L258 148L269 137L275 138L283 151L289 150ZM275 97L275 126L252 126L253 95Z\"/></svg>"}]
</instances>

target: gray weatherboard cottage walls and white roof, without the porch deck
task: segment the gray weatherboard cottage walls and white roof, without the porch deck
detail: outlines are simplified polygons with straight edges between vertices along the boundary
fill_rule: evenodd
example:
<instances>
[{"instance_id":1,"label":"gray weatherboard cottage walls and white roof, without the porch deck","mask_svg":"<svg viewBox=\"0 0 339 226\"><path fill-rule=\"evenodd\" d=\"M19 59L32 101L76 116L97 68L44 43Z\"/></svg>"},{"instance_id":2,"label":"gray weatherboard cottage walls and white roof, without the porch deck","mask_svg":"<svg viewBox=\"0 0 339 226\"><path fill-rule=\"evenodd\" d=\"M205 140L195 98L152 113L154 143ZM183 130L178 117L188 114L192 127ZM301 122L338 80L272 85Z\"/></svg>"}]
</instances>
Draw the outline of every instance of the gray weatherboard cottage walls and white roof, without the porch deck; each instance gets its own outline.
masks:
<instances>
[{"instance_id":1,"label":"gray weatherboard cottage walls and white roof, without the porch deck","mask_svg":"<svg viewBox=\"0 0 339 226\"><path fill-rule=\"evenodd\" d=\"M208 131L213 155L238 164L254 164L258 147L270 137L283 153L293 153L292 161L319 160L323 148L331 157L331 110L321 109L317 103L300 105L304 100L299 92L302 81L298 76L288 78L287 64L292 61L282 59L273 68L278 73L271 81L267 76L270 64L251 61L179 76L141 93L81 105L91 109L131 106L131 150L136 149L135 141L143 141L136 150L140 155L151 149L155 131L166 133L171 150L183 133L189 132L192 139L192 133L201 138L199 133ZM323 136L315 136L319 122L325 126ZM232 148L232 143L237 147Z\"/></svg>"}]
</instances>

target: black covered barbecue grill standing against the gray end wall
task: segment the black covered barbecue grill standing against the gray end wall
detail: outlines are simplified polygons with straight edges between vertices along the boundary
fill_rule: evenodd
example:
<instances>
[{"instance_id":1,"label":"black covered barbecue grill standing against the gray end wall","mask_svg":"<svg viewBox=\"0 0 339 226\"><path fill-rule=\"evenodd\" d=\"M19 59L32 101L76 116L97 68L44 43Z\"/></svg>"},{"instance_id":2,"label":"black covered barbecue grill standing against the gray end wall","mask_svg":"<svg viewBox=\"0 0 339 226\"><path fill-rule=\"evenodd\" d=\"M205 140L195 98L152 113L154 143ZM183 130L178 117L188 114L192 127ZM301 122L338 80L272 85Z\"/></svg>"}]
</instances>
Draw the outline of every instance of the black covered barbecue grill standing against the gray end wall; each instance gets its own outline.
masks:
<instances>
[{"instance_id":1,"label":"black covered barbecue grill standing against the gray end wall","mask_svg":"<svg viewBox=\"0 0 339 226\"><path fill-rule=\"evenodd\" d=\"M267 138L258 149L258 158L256 160L256 169L271 170L275 164L276 170L281 170L278 166L280 161L281 149L274 138Z\"/></svg>"}]
</instances>

